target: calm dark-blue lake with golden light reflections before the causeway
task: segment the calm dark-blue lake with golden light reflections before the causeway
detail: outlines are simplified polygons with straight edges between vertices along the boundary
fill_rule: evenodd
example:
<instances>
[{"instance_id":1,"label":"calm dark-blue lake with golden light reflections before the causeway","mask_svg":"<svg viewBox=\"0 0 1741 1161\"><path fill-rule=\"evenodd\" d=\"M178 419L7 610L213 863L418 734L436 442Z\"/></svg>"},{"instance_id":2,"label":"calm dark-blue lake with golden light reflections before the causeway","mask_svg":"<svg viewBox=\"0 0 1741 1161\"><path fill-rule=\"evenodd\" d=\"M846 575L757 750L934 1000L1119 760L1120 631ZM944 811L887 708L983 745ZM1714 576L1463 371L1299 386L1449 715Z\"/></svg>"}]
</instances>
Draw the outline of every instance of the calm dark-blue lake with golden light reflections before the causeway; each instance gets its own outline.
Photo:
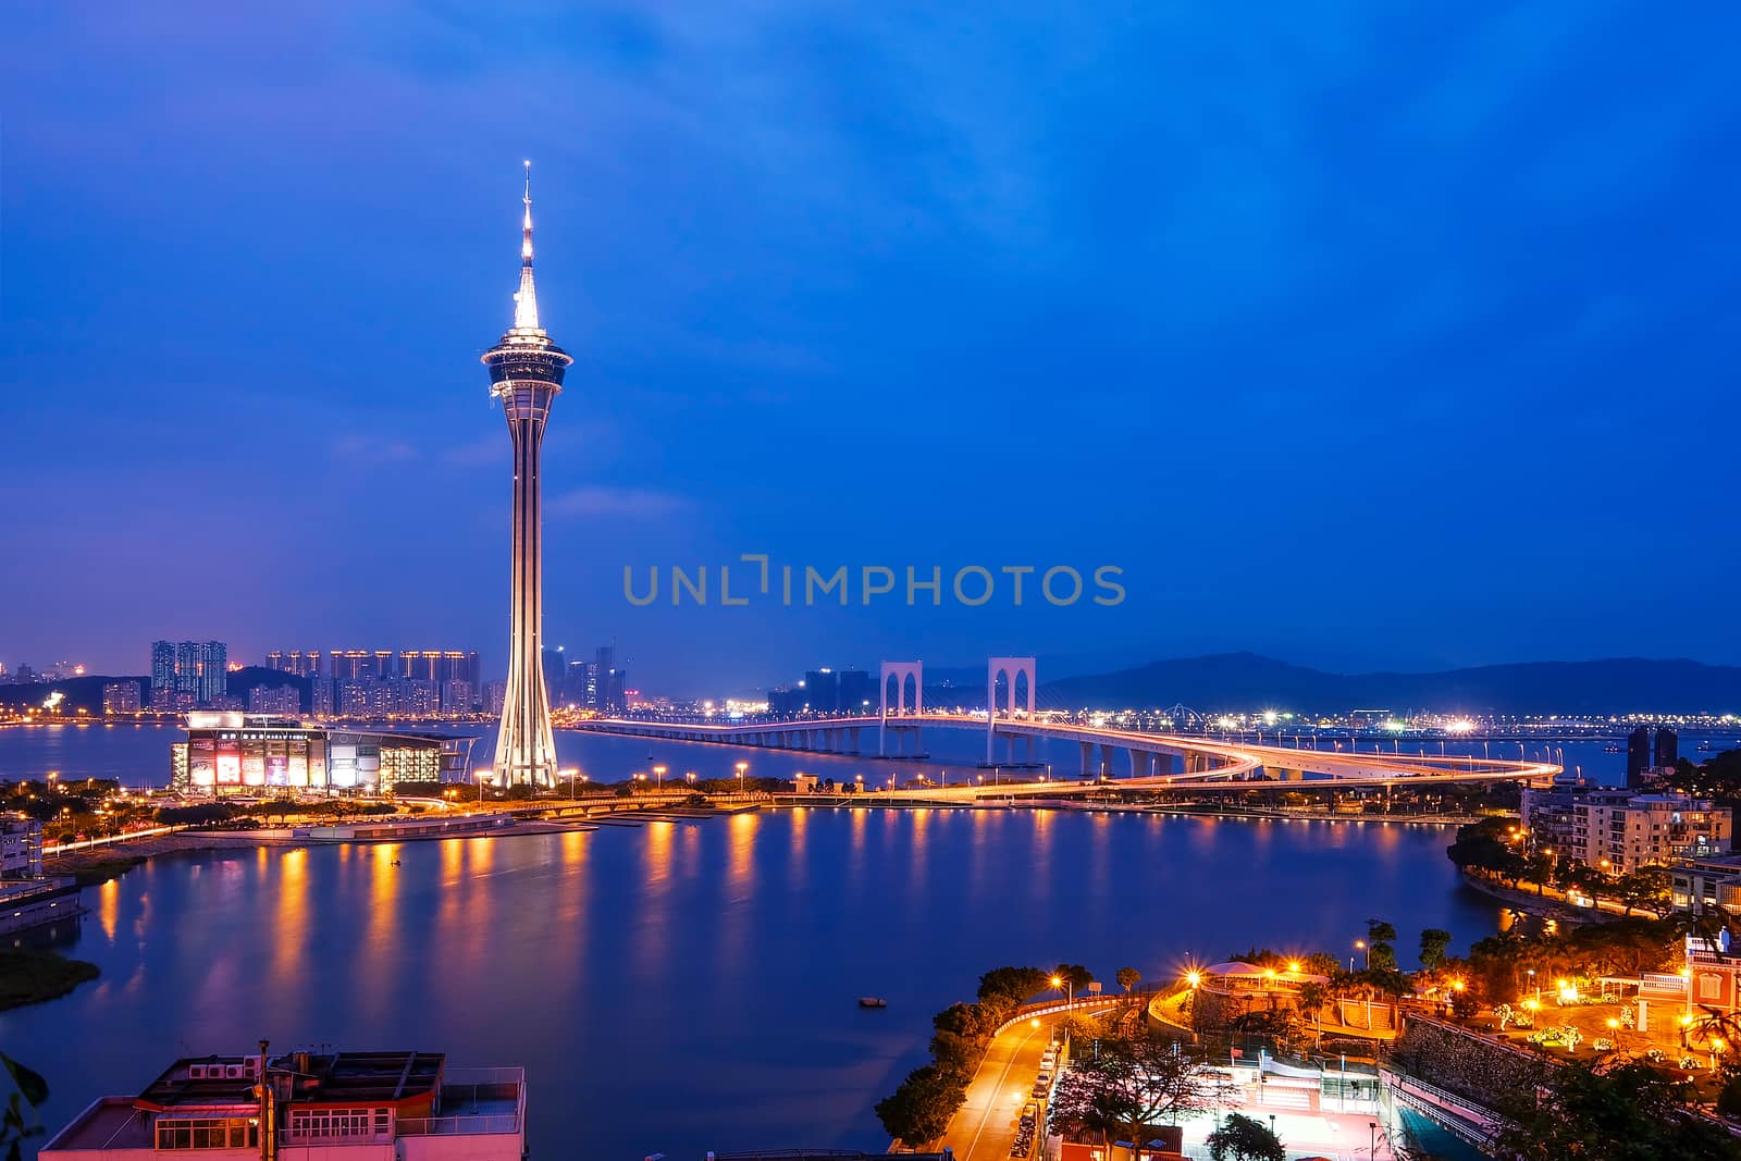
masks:
<instances>
[{"instance_id":1,"label":"calm dark-blue lake with golden light reflections before the causeway","mask_svg":"<svg viewBox=\"0 0 1741 1161\"><path fill-rule=\"evenodd\" d=\"M1457 949L1497 909L1450 832L808 808L696 823L167 858L94 888L103 978L0 1015L59 1123L167 1057L341 1044L531 1072L533 1156L886 1144L870 1105L999 963L1166 975L1368 916ZM395 867L393 862L400 865ZM862 1011L858 996L884 996Z\"/></svg>"}]
</instances>

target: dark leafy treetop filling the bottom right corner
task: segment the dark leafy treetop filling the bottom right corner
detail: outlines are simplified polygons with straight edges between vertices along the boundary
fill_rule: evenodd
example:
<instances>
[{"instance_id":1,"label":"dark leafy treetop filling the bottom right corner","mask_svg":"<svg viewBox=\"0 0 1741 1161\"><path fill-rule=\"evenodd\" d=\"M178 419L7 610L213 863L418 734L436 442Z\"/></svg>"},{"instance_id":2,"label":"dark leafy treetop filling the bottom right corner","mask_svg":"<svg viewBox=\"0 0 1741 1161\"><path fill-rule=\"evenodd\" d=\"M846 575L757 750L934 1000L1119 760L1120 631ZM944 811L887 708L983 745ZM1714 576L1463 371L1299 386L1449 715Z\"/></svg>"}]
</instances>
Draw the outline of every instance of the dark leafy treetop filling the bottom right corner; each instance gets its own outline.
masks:
<instances>
[{"instance_id":1,"label":"dark leafy treetop filling the bottom right corner","mask_svg":"<svg viewBox=\"0 0 1741 1161\"><path fill-rule=\"evenodd\" d=\"M1647 1064L1574 1062L1501 1102L1490 1152L1501 1161L1736 1161L1741 1144L1689 1109L1692 1084Z\"/></svg>"}]
</instances>

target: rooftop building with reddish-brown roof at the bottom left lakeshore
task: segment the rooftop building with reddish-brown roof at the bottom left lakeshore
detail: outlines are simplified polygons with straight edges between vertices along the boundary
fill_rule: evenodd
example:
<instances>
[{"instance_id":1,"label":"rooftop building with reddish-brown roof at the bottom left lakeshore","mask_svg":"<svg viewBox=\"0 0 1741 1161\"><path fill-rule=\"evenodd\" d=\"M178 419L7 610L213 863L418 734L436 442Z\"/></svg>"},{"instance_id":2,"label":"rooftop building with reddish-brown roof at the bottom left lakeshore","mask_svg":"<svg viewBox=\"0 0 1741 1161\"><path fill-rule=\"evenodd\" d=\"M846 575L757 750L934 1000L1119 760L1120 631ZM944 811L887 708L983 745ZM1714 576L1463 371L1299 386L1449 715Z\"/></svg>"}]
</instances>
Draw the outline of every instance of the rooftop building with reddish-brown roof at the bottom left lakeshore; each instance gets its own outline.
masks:
<instances>
[{"instance_id":1,"label":"rooftop building with reddish-brown roof at the bottom left lakeshore","mask_svg":"<svg viewBox=\"0 0 1741 1161\"><path fill-rule=\"evenodd\" d=\"M526 1074L449 1069L442 1053L427 1051L192 1057L169 1065L138 1097L94 1100L37 1156L150 1161L181 1152L524 1161Z\"/></svg>"}]
</instances>

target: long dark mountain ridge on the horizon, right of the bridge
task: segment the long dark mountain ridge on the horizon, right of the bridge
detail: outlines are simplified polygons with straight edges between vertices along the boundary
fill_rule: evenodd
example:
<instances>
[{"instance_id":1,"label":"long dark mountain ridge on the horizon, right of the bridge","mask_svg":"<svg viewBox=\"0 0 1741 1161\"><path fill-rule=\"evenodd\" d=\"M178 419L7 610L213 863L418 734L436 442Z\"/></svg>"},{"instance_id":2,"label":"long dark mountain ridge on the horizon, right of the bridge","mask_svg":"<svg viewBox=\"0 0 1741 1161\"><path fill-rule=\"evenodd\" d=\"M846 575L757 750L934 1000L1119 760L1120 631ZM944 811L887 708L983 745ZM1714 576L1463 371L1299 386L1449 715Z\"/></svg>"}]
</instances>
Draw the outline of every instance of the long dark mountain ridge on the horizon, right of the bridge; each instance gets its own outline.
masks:
<instances>
[{"instance_id":1,"label":"long dark mountain ridge on the horizon, right of the bridge","mask_svg":"<svg viewBox=\"0 0 1741 1161\"><path fill-rule=\"evenodd\" d=\"M1353 708L1727 714L1741 712L1741 667L1609 658L1482 665L1436 674L1327 674L1255 653L1220 653L1041 681L1036 701L1041 708L1187 705L1203 714L1262 707L1307 714L1346 714Z\"/></svg>"}]
</instances>

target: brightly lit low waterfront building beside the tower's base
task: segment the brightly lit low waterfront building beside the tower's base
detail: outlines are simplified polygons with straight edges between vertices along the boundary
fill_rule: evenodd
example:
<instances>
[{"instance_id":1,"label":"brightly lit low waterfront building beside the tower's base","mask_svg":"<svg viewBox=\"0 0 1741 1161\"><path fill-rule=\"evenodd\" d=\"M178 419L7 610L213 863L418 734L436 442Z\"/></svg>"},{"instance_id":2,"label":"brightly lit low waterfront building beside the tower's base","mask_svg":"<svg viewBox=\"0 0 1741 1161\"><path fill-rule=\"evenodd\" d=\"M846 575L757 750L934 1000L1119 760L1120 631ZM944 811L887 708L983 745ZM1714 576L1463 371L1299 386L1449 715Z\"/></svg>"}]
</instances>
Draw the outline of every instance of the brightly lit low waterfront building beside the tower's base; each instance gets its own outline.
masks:
<instances>
[{"instance_id":1,"label":"brightly lit low waterfront building beside the tower's base","mask_svg":"<svg viewBox=\"0 0 1741 1161\"><path fill-rule=\"evenodd\" d=\"M272 714L188 714L171 748L171 789L183 794L327 790L440 794L463 782L477 738L341 729Z\"/></svg>"}]
</instances>

